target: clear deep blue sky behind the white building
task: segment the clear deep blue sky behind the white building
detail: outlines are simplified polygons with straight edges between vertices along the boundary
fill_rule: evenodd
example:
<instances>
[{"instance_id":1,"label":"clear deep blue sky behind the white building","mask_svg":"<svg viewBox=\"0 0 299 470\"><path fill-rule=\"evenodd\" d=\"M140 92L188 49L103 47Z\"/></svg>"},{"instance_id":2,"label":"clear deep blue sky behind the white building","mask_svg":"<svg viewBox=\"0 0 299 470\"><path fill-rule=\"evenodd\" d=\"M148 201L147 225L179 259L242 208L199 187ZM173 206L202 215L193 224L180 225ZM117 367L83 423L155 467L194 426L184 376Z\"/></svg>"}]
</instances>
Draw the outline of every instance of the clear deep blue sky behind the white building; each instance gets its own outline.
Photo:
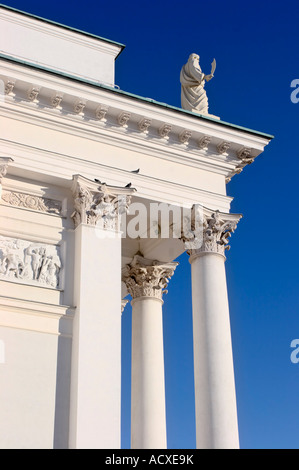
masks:
<instances>
[{"instance_id":1,"label":"clear deep blue sky behind the white building","mask_svg":"<svg viewBox=\"0 0 299 470\"><path fill-rule=\"evenodd\" d=\"M298 1L120 0L3 2L117 41L124 90L180 107L179 72L190 53L209 73L209 110L275 136L227 186L243 219L226 269L241 448L299 448ZM299 97L299 93L298 93ZM179 260L164 304L169 448L195 447L190 266ZM122 445L130 446L130 308L123 314Z\"/></svg>"}]
</instances>

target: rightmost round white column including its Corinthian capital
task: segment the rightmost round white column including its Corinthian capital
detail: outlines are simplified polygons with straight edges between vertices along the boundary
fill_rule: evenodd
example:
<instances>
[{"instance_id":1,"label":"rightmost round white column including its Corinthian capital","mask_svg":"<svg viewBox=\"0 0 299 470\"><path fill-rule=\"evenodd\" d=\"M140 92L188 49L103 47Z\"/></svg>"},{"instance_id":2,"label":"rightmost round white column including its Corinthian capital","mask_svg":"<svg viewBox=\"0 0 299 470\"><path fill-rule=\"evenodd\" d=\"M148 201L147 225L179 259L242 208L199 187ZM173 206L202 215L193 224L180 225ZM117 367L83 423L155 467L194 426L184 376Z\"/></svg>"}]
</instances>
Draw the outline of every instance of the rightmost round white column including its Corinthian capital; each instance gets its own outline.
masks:
<instances>
[{"instance_id":1,"label":"rightmost round white column including its Corinthian capital","mask_svg":"<svg viewBox=\"0 0 299 470\"><path fill-rule=\"evenodd\" d=\"M189 244L199 449L239 447L224 253L240 217L205 210L201 236Z\"/></svg>"}]
</instances>

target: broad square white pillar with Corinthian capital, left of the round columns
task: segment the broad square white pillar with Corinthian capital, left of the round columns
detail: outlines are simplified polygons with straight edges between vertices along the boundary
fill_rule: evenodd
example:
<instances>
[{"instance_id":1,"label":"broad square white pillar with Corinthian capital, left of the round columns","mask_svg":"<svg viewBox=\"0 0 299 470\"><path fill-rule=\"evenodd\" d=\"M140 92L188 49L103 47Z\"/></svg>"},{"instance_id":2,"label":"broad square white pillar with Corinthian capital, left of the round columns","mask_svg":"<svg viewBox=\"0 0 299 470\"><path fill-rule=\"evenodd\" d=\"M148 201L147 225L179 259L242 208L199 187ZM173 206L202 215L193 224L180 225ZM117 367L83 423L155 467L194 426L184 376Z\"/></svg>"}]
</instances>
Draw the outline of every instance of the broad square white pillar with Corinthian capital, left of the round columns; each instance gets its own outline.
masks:
<instances>
[{"instance_id":1,"label":"broad square white pillar with Corinthian capital, left of the round columns","mask_svg":"<svg viewBox=\"0 0 299 470\"><path fill-rule=\"evenodd\" d=\"M72 449L120 448L119 214L127 208L133 191L73 177L76 313L70 390Z\"/></svg>"}]
</instances>

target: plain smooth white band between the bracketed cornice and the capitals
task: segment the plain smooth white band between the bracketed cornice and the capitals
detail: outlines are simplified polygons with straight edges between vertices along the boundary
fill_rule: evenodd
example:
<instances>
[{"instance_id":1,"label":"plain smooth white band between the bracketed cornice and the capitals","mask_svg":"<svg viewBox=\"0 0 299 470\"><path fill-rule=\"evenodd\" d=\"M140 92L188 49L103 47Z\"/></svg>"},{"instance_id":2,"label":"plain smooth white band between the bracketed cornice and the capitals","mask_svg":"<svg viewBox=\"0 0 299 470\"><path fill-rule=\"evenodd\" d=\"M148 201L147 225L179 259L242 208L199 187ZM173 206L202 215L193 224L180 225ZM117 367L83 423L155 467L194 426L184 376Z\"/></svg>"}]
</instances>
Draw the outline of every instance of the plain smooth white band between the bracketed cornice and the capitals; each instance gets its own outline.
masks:
<instances>
[{"instance_id":1,"label":"plain smooth white band between the bracketed cornice and the capitals","mask_svg":"<svg viewBox=\"0 0 299 470\"><path fill-rule=\"evenodd\" d=\"M101 163L90 162L76 158L73 155L48 152L46 150L36 149L31 146L18 144L15 142L0 140L2 154L14 155L18 166L10 168L10 174L20 176L24 172L38 172L39 179L45 182L61 185L64 188L71 188L74 167L87 178L93 179L97 175L104 181L115 186L121 186L124 179L132 182L137 189L137 195L141 198L158 200L170 204L177 204L184 194L184 201L192 205L194 202L209 205L212 208L219 208L228 211L232 197L213 193L192 186L186 186L154 178L147 175L138 174L135 176L128 170L118 167L107 166ZM53 161L56 162L53 166ZM4 189L6 186L4 185Z\"/></svg>"}]
</instances>

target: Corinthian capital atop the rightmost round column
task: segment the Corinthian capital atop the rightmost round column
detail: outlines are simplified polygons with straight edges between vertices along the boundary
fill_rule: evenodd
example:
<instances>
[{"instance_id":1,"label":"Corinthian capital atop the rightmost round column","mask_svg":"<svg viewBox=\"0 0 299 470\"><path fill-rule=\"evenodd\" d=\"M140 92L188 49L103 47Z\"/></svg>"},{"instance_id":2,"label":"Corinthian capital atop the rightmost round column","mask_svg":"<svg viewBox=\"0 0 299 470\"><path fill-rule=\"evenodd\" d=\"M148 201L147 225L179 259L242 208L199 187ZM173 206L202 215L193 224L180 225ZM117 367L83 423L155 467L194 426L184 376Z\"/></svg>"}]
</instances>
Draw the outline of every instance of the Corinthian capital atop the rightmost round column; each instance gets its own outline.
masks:
<instances>
[{"instance_id":1,"label":"Corinthian capital atop the rightmost round column","mask_svg":"<svg viewBox=\"0 0 299 470\"><path fill-rule=\"evenodd\" d=\"M193 211L191 229L189 233L185 230L181 237L188 253L217 253L224 256L225 251L230 249L229 238L241 217L241 214L225 214L203 208L201 218L198 219L197 213ZM196 218L197 223L194 222Z\"/></svg>"}]
</instances>

